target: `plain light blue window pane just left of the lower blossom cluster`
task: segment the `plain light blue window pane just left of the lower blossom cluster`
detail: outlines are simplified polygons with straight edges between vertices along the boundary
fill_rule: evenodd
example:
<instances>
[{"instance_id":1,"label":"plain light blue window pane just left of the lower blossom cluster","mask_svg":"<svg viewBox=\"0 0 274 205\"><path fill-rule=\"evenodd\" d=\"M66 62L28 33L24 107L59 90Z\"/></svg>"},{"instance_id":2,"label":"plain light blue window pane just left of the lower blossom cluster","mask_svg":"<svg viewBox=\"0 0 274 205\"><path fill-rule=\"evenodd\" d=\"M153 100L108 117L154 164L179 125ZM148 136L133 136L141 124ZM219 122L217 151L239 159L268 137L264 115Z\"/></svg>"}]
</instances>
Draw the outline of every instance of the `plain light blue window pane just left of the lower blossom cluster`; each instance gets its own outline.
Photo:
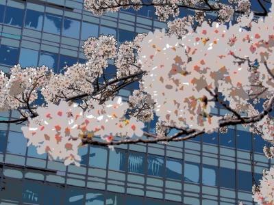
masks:
<instances>
[{"instance_id":1,"label":"plain light blue window pane just left of the lower blossom cluster","mask_svg":"<svg viewBox=\"0 0 274 205\"><path fill-rule=\"evenodd\" d=\"M12 154L25 155L27 149L27 138L23 133L15 133L10 131L8 135L7 152Z\"/></svg>"}]
</instances>

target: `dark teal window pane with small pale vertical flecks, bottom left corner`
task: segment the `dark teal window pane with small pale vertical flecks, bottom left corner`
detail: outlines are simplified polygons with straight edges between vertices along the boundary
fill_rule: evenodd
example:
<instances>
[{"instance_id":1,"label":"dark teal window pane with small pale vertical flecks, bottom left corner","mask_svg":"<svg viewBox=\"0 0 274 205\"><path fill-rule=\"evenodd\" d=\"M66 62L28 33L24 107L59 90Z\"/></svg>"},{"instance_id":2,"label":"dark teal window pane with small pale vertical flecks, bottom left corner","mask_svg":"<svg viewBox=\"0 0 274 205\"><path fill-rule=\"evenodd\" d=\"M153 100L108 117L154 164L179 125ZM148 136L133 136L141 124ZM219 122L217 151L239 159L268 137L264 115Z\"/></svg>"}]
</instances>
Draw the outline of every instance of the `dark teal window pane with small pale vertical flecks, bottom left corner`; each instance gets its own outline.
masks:
<instances>
[{"instance_id":1,"label":"dark teal window pane with small pale vertical flecks, bottom left corner","mask_svg":"<svg viewBox=\"0 0 274 205\"><path fill-rule=\"evenodd\" d=\"M25 203L42 204L43 187L42 184L26 180L23 183L22 199Z\"/></svg>"}]
</instances>

